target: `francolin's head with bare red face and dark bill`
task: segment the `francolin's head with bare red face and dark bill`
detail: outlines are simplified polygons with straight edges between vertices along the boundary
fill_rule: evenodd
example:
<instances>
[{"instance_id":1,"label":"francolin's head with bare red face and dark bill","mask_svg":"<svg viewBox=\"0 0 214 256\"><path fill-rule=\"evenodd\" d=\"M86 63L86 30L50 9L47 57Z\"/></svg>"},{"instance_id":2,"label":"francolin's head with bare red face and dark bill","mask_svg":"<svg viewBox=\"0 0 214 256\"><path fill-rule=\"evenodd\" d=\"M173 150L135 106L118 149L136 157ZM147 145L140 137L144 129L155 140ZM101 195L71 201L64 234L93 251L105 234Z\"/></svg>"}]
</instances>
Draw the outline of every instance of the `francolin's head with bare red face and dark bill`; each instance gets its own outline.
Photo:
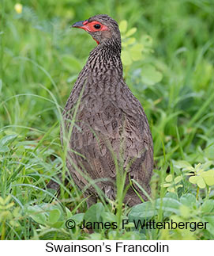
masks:
<instances>
[{"instance_id":1,"label":"francolin's head with bare red face and dark bill","mask_svg":"<svg viewBox=\"0 0 214 256\"><path fill-rule=\"evenodd\" d=\"M121 42L118 23L107 14L99 14L88 20L78 21L72 27L87 31L97 44L102 44L106 40Z\"/></svg>"}]
</instances>

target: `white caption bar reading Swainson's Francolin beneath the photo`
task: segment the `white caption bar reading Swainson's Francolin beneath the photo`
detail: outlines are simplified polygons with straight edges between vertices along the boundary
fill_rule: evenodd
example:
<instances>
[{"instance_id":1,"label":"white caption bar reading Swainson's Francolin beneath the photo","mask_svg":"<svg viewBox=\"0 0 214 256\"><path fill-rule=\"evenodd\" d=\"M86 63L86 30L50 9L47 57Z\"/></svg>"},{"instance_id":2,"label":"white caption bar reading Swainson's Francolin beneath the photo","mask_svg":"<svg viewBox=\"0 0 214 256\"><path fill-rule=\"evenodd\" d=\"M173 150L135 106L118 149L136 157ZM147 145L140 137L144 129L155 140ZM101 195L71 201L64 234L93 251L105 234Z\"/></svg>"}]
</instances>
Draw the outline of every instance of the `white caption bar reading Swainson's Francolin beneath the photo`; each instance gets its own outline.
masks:
<instances>
[{"instance_id":1,"label":"white caption bar reading Swainson's Francolin beneath the photo","mask_svg":"<svg viewBox=\"0 0 214 256\"><path fill-rule=\"evenodd\" d=\"M205 255L210 254L214 241L167 240L50 240L0 241L1 255Z\"/></svg>"}]
</instances>

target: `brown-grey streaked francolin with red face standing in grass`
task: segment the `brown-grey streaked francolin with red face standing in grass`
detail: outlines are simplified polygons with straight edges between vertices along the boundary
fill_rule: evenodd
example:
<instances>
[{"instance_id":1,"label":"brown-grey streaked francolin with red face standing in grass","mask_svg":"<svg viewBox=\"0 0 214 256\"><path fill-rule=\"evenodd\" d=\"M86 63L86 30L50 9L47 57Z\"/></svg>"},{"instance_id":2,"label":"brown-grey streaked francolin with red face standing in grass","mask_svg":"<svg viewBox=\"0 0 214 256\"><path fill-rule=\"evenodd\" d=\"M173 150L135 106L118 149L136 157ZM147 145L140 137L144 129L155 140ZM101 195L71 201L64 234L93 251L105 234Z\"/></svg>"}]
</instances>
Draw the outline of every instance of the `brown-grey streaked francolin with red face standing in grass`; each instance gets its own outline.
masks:
<instances>
[{"instance_id":1,"label":"brown-grey streaked francolin with red face standing in grass","mask_svg":"<svg viewBox=\"0 0 214 256\"><path fill-rule=\"evenodd\" d=\"M124 191L127 188L123 203L132 207L151 194L153 143L145 111L123 78L118 23L107 14L98 14L72 27L88 32L96 47L62 113L66 166L89 205L99 199L96 188L107 200L116 200L117 173L122 170Z\"/></svg>"}]
</instances>

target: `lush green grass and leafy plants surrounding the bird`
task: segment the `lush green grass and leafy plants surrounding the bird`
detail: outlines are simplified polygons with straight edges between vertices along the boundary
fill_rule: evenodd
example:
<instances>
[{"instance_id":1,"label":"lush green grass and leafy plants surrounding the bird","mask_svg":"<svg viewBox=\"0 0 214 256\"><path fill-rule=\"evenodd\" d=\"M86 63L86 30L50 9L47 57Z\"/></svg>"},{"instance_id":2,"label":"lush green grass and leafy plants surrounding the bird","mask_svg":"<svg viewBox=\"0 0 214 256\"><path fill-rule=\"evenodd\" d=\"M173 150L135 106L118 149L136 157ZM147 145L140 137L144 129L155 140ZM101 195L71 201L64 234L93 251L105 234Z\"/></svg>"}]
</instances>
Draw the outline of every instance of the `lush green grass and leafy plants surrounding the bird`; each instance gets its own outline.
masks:
<instances>
[{"instance_id":1,"label":"lush green grass and leafy plants surrounding the bird","mask_svg":"<svg viewBox=\"0 0 214 256\"><path fill-rule=\"evenodd\" d=\"M214 2L21 3L21 13L14 10L15 1L0 6L1 238L213 239ZM96 45L69 25L96 13L127 21L121 23L124 75L152 129L152 199L133 208L122 207L122 187L116 203L100 201L91 208L72 180L68 187L58 181L59 197L46 187L56 174L66 174L61 113ZM137 32L127 36L133 27ZM136 42L128 44L132 37ZM137 54L135 44L143 47ZM77 227L69 230L65 222L71 218ZM89 234L80 228L83 219L120 223L127 218L124 230ZM208 221L208 228L136 229L133 220L139 219Z\"/></svg>"}]
</instances>

